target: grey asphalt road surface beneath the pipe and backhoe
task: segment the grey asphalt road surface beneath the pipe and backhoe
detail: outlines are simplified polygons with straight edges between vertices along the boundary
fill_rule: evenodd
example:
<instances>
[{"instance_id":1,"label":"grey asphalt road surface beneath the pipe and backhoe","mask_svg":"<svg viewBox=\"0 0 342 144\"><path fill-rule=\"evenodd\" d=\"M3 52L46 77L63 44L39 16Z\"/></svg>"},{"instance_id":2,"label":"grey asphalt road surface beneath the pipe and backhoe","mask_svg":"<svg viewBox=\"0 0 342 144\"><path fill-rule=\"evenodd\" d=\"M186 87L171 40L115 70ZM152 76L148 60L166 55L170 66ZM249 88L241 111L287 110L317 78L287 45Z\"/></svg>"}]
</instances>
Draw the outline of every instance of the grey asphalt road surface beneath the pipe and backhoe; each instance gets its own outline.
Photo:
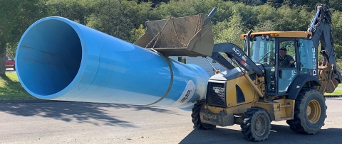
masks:
<instances>
[{"instance_id":1,"label":"grey asphalt road surface beneath the pipe and backhoe","mask_svg":"<svg viewBox=\"0 0 342 144\"><path fill-rule=\"evenodd\" d=\"M342 99L330 98L326 125L300 135L272 122L261 143L341 143ZM177 108L81 102L0 104L0 143L251 143L238 125L193 128L190 111Z\"/></svg>"}]
</instances>

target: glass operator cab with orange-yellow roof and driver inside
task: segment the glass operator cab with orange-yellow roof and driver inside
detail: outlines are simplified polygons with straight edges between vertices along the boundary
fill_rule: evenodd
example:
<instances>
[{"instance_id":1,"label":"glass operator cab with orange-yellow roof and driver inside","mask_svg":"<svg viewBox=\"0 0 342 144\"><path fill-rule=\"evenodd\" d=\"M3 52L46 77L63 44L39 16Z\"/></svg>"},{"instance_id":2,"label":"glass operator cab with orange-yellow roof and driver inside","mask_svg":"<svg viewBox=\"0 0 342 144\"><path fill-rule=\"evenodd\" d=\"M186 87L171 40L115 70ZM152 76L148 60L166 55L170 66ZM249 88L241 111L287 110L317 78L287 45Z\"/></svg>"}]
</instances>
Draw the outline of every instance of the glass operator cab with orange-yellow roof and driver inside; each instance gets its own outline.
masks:
<instances>
[{"instance_id":1,"label":"glass operator cab with orange-yellow roof and driver inside","mask_svg":"<svg viewBox=\"0 0 342 144\"><path fill-rule=\"evenodd\" d=\"M249 40L246 36L242 35L244 52L264 67L267 95L288 95L291 82L300 74L317 76L317 50L310 32L252 33Z\"/></svg>"}]
</instances>

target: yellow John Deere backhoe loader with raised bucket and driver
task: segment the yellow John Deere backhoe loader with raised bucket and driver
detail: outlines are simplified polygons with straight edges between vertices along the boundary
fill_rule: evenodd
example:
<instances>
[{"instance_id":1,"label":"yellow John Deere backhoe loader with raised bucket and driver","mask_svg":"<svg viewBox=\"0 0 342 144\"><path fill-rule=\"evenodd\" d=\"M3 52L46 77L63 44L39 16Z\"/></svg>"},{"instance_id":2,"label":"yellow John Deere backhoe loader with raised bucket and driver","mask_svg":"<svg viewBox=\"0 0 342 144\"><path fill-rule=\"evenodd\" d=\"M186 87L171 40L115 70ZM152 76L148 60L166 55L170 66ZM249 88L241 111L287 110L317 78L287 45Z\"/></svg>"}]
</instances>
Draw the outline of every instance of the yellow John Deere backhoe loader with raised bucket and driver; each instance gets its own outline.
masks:
<instances>
[{"instance_id":1,"label":"yellow John Deere backhoe loader with raised bucket and driver","mask_svg":"<svg viewBox=\"0 0 342 144\"><path fill-rule=\"evenodd\" d=\"M243 49L232 43L214 44L211 16L148 21L145 35L135 42L165 57L209 56L227 68L210 77L206 98L195 103L195 127L239 124L251 141L266 140L271 121L286 120L296 133L320 131L326 119L323 94L341 83L328 6L318 4L307 31L241 35ZM319 43L323 62L318 62Z\"/></svg>"}]
</instances>

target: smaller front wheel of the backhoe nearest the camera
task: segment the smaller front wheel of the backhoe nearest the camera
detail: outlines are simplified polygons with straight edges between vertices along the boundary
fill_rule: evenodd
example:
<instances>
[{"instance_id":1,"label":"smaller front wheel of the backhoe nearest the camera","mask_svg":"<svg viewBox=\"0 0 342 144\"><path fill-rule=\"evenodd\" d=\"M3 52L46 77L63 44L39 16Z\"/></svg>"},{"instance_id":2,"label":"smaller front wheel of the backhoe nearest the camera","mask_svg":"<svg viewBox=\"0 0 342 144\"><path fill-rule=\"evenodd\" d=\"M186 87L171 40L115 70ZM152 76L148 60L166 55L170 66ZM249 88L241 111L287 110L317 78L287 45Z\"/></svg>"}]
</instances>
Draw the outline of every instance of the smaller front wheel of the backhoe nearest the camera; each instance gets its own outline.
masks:
<instances>
[{"instance_id":1,"label":"smaller front wheel of the backhoe nearest the camera","mask_svg":"<svg viewBox=\"0 0 342 144\"><path fill-rule=\"evenodd\" d=\"M266 109L252 107L244 113L241 123L242 134L249 141L264 141L271 132L271 120Z\"/></svg>"}]
</instances>

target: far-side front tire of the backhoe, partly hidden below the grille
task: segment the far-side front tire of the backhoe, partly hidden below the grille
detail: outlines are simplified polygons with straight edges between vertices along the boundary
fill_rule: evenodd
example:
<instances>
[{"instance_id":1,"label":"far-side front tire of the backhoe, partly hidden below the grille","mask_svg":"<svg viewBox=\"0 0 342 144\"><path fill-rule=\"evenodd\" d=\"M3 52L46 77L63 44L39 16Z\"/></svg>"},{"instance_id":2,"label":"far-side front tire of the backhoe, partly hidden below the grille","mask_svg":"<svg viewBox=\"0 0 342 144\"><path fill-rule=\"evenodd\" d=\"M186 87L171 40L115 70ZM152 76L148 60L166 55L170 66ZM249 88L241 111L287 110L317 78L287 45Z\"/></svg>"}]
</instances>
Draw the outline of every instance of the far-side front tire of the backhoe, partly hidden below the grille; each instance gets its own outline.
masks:
<instances>
[{"instance_id":1,"label":"far-side front tire of the backhoe, partly hidden below the grille","mask_svg":"<svg viewBox=\"0 0 342 144\"><path fill-rule=\"evenodd\" d=\"M204 103L205 103L205 99L198 100L195 103L194 108L192 108L192 114L191 114L192 123L194 123L194 126L196 128L199 128L201 130L216 128L215 125L202 123L201 121L201 118L199 116L199 111L201 111L201 109L204 109Z\"/></svg>"}]
</instances>

